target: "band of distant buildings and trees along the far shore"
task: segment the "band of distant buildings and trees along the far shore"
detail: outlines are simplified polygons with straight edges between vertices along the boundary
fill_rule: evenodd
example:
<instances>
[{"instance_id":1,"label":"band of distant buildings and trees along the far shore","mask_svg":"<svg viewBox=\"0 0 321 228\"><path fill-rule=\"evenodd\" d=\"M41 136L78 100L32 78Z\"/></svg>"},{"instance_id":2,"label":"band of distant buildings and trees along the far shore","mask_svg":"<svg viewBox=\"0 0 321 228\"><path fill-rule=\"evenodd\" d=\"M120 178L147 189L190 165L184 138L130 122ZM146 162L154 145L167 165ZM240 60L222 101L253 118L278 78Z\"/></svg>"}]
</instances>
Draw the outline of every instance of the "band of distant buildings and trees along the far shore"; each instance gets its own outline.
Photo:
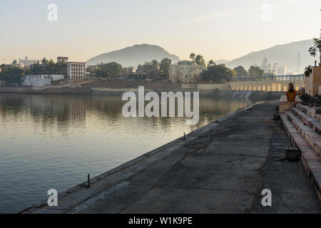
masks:
<instances>
[{"instance_id":1,"label":"band of distant buildings and trees along the far shore","mask_svg":"<svg viewBox=\"0 0 321 228\"><path fill-rule=\"evenodd\" d=\"M85 62L70 61L68 57L59 56L56 61L43 58L41 61L19 58L11 64L0 66L0 86L53 86L70 82L86 83L96 81L106 85L106 81L167 81L195 85L198 83L222 84L235 78L258 78L269 76L297 75L288 73L286 66L269 63L267 58L258 65L245 69L238 66L233 69L224 63L205 61L203 56L190 54L190 59L172 64L170 58L160 62L153 60L139 64L136 67L123 67L120 63L100 63L87 66Z\"/></svg>"}]
</instances>

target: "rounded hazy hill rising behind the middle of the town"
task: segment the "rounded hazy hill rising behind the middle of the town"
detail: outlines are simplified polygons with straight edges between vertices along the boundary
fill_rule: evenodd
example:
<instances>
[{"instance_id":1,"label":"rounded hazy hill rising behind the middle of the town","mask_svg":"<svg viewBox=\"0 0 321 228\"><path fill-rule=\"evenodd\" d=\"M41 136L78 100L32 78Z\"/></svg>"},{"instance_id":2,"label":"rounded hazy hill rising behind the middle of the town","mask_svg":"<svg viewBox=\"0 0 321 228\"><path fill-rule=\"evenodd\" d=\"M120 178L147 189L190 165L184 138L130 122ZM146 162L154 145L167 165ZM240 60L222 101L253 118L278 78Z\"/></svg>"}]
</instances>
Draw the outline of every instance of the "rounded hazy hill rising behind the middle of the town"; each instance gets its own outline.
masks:
<instances>
[{"instance_id":1,"label":"rounded hazy hill rising behind the middle of the town","mask_svg":"<svg viewBox=\"0 0 321 228\"><path fill-rule=\"evenodd\" d=\"M138 64L143 64L146 61L152 61L156 59L158 62L163 58L170 58L172 63L178 63L180 58L175 55L171 55L164 48L155 45L141 44L135 45L127 48L123 48L119 51L111 51L108 53L103 53L99 56L89 59L86 64L88 66L93 66L98 63L111 63L117 62L121 63L123 67L137 67Z\"/></svg>"}]
</instances>

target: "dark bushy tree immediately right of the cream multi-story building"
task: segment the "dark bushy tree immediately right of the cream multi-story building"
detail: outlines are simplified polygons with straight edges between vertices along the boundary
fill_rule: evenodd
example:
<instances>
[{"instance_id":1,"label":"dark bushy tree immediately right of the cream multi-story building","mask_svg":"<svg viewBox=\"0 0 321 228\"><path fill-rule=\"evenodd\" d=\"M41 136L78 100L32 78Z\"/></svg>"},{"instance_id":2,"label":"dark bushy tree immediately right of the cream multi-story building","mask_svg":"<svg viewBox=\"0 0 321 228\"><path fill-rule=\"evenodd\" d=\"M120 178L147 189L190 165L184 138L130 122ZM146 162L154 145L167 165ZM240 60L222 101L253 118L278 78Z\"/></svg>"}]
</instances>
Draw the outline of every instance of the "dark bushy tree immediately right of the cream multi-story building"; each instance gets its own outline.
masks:
<instances>
[{"instance_id":1,"label":"dark bushy tree immediately right of the cream multi-story building","mask_svg":"<svg viewBox=\"0 0 321 228\"><path fill-rule=\"evenodd\" d=\"M230 68L227 68L224 64L208 66L206 71L202 73L203 81L213 81L215 83L220 83L227 78L233 76L233 72Z\"/></svg>"}]
</instances>

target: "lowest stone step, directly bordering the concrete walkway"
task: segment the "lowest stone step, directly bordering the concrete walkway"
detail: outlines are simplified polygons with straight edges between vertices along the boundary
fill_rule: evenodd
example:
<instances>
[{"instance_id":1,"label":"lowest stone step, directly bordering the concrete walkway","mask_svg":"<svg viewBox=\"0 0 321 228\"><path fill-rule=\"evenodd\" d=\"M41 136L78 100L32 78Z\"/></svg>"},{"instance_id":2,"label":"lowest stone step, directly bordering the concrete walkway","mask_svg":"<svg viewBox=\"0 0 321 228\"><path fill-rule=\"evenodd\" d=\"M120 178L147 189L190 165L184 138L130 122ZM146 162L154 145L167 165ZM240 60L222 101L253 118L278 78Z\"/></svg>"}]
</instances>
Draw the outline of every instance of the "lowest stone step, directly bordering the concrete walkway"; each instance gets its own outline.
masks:
<instances>
[{"instance_id":1,"label":"lowest stone step, directly bordering the concrete walkway","mask_svg":"<svg viewBox=\"0 0 321 228\"><path fill-rule=\"evenodd\" d=\"M292 125L286 114L280 113L280 120L283 128L285 128L285 132L292 142L292 145L297 147L300 151L302 164L315 186L319 199L321 200L321 157L315 153L315 150L310 146L310 143L308 143Z\"/></svg>"}]
</instances>

